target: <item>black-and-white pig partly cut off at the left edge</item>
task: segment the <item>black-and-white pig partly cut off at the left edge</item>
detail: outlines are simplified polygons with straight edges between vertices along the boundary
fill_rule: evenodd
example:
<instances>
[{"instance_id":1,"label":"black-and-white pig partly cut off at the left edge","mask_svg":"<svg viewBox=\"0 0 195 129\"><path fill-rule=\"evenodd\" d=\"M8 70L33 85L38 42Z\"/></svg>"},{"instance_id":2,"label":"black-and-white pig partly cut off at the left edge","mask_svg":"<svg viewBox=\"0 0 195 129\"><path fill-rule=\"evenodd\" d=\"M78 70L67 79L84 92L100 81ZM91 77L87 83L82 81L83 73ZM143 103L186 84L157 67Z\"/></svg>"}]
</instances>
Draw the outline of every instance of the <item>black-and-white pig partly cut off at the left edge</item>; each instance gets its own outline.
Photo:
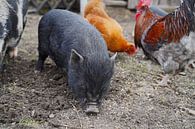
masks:
<instances>
[{"instance_id":1,"label":"black-and-white pig partly cut off at the left edge","mask_svg":"<svg viewBox=\"0 0 195 129\"><path fill-rule=\"evenodd\" d=\"M17 56L26 22L28 0L0 0L0 70L2 71L5 54Z\"/></svg>"}]
</instances>

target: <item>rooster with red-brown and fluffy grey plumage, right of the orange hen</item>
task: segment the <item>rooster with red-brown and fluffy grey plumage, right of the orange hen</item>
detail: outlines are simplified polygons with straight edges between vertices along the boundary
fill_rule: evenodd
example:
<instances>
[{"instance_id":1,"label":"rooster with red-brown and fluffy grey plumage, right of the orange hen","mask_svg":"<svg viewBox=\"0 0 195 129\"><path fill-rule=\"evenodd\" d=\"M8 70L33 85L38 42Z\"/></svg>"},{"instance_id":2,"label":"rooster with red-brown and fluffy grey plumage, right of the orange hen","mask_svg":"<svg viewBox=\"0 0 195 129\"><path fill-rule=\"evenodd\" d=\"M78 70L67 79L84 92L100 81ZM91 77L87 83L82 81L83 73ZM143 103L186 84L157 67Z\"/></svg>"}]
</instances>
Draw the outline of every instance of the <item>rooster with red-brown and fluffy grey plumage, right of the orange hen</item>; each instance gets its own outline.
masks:
<instances>
[{"instance_id":1,"label":"rooster with red-brown and fluffy grey plumage, right of the orange hen","mask_svg":"<svg viewBox=\"0 0 195 129\"><path fill-rule=\"evenodd\" d=\"M183 0L172 13L158 15L151 0L137 5L135 45L159 63L165 73L185 70L195 63L195 0Z\"/></svg>"}]
</instances>

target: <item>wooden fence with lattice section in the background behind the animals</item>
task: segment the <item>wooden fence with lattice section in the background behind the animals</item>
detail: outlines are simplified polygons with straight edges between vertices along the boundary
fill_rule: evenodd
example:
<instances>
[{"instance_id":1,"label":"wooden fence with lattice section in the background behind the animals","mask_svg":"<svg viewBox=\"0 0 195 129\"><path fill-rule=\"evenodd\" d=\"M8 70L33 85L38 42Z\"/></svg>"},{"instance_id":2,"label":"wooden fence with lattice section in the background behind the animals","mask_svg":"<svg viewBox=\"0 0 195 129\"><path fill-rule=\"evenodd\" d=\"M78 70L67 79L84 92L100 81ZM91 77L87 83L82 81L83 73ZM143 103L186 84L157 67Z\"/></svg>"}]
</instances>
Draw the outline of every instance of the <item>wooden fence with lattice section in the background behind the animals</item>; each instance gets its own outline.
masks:
<instances>
[{"instance_id":1,"label":"wooden fence with lattice section in the background behind the animals","mask_svg":"<svg viewBox=\"0 0 195 129\"><path fill-rule=\"evenodd\" d=\"M138 1L139 0L104 0L106 5L123 6L129 9L134 9ZM29 2L32 7L30 12L44 13L54 8L63 8L78 12L80 11L80 5L82 12L82 7L84 7L83 4L85 4L87 0L29 0ZM180 0L153 0L154 5L157 5L163 9L176 8L179 3Z\"/></svg>"}]
</instances>

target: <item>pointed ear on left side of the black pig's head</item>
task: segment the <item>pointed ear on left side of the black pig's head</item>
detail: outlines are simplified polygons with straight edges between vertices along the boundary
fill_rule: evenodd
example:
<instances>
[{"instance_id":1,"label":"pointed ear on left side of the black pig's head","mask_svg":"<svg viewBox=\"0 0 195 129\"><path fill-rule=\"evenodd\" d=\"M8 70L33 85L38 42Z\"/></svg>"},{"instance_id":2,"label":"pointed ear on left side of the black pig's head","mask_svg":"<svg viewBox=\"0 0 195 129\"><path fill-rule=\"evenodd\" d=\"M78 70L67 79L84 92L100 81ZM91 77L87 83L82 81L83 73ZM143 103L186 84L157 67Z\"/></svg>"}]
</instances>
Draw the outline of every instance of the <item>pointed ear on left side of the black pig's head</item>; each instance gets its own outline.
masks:
<instances>
[{"instance_id":1,"label":"pointed ear on left side of the black pig's head","mask_svg":"<svg viewBox=\"0 0 195 129\"><path fill-rule=\"evenodd\" d=\"M79 64L83 62L83 57L74 49L71 50L70 63Z\"/></svg>"}]
</instances>

